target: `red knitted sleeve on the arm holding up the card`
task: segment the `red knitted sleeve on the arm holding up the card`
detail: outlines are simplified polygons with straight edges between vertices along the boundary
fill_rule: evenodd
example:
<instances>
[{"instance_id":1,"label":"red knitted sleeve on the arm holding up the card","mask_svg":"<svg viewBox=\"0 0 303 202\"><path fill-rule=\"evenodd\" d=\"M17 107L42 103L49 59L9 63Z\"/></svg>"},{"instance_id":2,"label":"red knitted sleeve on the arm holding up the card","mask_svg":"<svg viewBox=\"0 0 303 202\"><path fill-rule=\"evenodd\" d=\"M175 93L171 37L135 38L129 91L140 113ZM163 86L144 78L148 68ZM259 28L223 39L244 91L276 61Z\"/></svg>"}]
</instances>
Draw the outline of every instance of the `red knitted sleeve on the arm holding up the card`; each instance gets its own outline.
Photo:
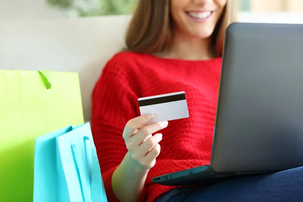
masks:
<instances>
[{"instance_id":1,"label":"red knitted sleeve on the arm holding up the card","mask_svg":"<svg viewBox=\"0 0 303 202\"><path fill-rule=\"evenodd\" d=\"M119 64L123 65L117 61L107 63L92 93L91 129L109 201L118 201L111 179L127 153L122 137L124 127L139 116L136 93Z\"/></svg>"}]
</instances>

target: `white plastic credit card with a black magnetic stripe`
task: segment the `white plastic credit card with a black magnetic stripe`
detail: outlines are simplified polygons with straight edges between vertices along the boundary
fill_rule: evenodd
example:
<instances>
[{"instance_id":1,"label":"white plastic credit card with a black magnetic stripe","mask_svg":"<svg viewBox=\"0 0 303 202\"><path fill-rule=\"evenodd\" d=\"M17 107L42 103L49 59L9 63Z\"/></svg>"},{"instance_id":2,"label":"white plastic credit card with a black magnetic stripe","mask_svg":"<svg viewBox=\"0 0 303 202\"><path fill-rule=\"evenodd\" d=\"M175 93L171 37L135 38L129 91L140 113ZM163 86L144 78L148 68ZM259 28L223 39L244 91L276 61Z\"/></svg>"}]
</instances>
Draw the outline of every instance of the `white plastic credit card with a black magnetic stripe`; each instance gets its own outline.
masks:
<instances>
[{"instance_id":1,"label":"white plastic credit card with a black magnetic stripe","mask_svg":"<svg viewBox=\"0 0 303 202\"><path fill-rule=\"evenodd\" d=\"M154 114L150 123L188 118L185 92L174 92L138 98L141 115Z\"/></svg>"}]
</instances>

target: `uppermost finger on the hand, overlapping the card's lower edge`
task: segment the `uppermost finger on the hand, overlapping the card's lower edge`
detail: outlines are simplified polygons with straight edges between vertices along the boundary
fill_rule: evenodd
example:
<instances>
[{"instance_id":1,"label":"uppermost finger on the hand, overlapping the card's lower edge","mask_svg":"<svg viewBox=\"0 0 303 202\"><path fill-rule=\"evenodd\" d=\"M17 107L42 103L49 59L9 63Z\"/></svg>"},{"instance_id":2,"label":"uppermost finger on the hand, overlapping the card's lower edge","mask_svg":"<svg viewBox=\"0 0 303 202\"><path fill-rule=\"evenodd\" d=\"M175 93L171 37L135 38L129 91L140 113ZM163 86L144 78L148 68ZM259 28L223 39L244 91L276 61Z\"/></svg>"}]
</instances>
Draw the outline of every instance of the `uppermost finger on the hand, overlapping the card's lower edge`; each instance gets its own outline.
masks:
<instances>
[{"instance_id":1,"label":"uppermost finger on the hand, overlapping the card's lower edge","mask_svg":"<svg viewBox=\"0 0 303 202\"><path fill-rule=\"evenodd\" d=\"M150 115L139 116L129 120L124 128L123 137L128 138L132 136L138 129L142 128L144 125L152 121L154 118L155 115L150 114Z\"/></svg>"}]
</instances>

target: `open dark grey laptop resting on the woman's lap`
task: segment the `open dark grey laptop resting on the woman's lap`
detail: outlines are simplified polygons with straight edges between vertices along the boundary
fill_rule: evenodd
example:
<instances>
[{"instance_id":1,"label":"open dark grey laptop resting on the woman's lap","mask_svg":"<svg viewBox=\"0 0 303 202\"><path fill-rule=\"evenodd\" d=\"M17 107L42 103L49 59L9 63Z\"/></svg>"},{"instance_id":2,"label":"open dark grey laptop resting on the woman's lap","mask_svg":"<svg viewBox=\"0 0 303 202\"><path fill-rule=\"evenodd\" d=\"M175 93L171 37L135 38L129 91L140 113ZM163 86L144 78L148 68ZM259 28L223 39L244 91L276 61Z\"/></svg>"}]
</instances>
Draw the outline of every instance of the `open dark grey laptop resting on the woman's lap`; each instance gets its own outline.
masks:
<instances>
[{"instance_id":1,"label":"open dark grey laptop resting on the woman's lap","mask_svg":"<svg viewBox=\"0 0 303 202\"><path fill-rule=\"evenodd\" d=\"M303 25L226 30L210 165L153 177L197 185L303 166Z\"/></svg>"}]
</instances>

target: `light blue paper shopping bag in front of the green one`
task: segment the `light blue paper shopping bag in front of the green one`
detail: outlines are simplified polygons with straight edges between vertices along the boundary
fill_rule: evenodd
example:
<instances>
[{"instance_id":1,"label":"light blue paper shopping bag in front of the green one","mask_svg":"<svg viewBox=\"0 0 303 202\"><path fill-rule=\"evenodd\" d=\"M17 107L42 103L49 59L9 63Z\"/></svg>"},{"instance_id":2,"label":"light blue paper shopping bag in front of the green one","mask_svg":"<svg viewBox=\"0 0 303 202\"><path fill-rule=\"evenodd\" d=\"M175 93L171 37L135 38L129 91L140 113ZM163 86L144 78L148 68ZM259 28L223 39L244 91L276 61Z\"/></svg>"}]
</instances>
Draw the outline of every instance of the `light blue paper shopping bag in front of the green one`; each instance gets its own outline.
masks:
<instances>
[{"instance_id":1,"label":"light blue paper shopping bag in front of the green one","mask_svg":"<svg viewBox=\"0 0 303 202\"><path fill-rule=\"evenodd\" d=\"M108 201L89 123L36 138L33 201Z\"/></svg>"}]
</instances>

